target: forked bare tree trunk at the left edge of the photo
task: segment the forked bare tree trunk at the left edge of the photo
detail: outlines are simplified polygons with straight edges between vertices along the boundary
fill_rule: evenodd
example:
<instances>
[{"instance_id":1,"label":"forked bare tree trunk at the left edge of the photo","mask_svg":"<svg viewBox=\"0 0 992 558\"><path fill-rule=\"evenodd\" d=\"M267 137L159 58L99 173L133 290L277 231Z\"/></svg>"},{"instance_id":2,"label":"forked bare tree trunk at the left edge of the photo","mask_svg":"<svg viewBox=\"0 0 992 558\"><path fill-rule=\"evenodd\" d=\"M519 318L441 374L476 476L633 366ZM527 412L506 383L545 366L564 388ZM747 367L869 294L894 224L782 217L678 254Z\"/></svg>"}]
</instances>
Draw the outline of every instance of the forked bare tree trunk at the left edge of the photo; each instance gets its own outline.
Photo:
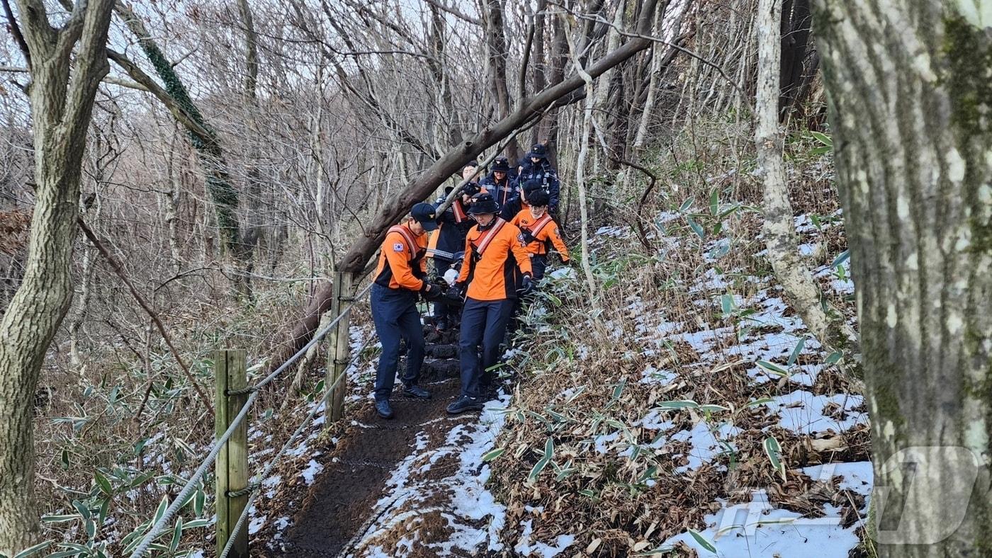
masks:
<instances>
[{"instance_id":1,"label":"forked bare tree trunk at the left edge of the photo","mask_svg":"<svg viewBox=\"0 0 992 558\"><path fill-rule=\"evenodd\" d=\"M21 48L31 68L36 185L27 268L0 321L0 553L8 556L38 536L35 390L72 296L69 264L79 175L93 99L109 70L105 49L113 3L79 4L59 28L49 22L40 0L17 5Z\"/></svg>"}]
</instances>

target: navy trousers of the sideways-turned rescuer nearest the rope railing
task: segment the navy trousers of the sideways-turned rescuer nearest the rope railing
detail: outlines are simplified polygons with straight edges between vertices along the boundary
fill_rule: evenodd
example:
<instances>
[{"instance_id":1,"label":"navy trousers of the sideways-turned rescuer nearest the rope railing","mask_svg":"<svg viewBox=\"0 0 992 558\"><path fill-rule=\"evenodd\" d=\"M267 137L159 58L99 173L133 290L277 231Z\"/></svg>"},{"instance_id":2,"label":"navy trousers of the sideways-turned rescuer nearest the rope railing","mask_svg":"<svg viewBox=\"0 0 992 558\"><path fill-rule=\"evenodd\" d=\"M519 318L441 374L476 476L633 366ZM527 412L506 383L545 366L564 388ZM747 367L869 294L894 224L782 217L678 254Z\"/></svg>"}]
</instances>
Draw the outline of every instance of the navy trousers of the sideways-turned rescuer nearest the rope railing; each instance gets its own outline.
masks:
<instances>
[{"instance_id":1,"label":"navy trousers of the sideways-turned rescuer nearest the rope railing","mask_svg":"<svg viewBox=\"0 0 992 558\"><path fill-rule=\"evenodd\" d=\"M417 310L417 293L405 288L372 285L372 321L382 342L382 355L375 375L376 400L388 399L396 385L400 361L400 339L407 342L407 370L403 383L416 386L424 364L424 327Z\"/></svg>"}]
</instances>

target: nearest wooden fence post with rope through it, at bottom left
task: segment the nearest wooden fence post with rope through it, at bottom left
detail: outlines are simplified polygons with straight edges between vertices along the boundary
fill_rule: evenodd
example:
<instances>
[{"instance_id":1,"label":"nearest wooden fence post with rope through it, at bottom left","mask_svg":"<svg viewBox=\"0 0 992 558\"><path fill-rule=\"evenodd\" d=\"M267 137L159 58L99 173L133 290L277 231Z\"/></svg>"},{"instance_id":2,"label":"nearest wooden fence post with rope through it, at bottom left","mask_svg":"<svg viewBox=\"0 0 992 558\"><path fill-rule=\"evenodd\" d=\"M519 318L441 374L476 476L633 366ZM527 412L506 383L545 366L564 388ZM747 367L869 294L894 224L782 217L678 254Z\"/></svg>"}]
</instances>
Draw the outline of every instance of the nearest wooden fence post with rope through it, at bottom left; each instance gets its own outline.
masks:
<instances>
[{"instance_id":1,"label":"nearest wooden fence post with rope through it, at bottom left","mask_svg":"<svg viewBox=\"0 0 992 558\"><path fill-rule=\"evenodd\" d=\"M245 351L222 349L213 362L216 395L214 399L214 439L219 438L241 411L248 394L232 395L230 391L248 387ZM231 438L221 448L214 463L216 473L217 556L227 545L227 540L248 503L248 495L229 496L232 492L248 488L248 421L243 420ZM248 558L248 524L237 533L228 556Z\"/></svg>"}]
</instances>

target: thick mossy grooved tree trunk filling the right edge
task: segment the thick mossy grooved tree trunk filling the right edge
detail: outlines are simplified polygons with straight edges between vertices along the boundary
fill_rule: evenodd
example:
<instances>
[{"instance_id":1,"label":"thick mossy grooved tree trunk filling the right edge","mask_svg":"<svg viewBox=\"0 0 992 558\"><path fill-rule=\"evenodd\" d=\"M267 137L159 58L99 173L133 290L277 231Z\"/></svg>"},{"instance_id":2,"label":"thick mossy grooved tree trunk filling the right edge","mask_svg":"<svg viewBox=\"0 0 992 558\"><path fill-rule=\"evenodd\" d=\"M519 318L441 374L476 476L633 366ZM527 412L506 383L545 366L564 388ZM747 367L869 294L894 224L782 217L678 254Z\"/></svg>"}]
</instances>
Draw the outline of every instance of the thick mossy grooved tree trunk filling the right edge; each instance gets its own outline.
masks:
<instances>
[{"instance_id":1,"label":"thick mossy grooved tree trunk filling the right edge","mask_svg":"<svg viewBox=\"0 0 992 558\"><path fill-rule=\"evenodd\" d=\"M885 496L879 555L988 556L992 6L814 7ZM936 449L908 449L921 446Z\"/></svg>"}]
</instances>

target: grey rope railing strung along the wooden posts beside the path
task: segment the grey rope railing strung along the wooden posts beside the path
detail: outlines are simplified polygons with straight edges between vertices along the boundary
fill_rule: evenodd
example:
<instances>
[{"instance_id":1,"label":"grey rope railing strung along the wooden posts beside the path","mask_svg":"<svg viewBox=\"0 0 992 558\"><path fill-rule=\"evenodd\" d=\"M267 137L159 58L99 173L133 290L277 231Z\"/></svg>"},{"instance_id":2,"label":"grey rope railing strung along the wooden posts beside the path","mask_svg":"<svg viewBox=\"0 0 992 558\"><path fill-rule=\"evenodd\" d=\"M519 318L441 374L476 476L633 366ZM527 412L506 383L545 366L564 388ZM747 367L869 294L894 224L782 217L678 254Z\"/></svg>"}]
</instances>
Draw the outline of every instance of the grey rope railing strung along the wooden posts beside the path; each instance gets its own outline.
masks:
<instances>
[{"instance_id":1,"label":"grey rope railing strung along the wooden posts beside the path","mask_svg":"<svg viewBox=\"0 0 992 558\"><path fill-rule=\"evenodd\" d=\"M364 296L372 288L372 284L374 284L374 283L369 283L361 291L355 293L355 295L352 298L353 299L358 299L358 298ZM210 467L210 465L213 464L214 460L216 460L216 458L217 458L217 454L220 453L221 449L224 447L224 445L230 440L231 436L234 434L234 431L238 428L238 426L241 425L241 423L248 416L248 411L251 409L252 404L254 404L255 399L258 398L258 392L259 392L259 390L261 390L262 388L264 388L265 386L267 386L268 384L270 384L272 381L274 381L276 378L278 378L280 374L282 374L283 372L285 372L286 369L288 369L297 360L299 360L300 357L302 357L303 355L307 354L307 352L310 350L310 348L313 347L314 345L316 345L317 343L319 343L327 335L327 333L329 333L333 328L335 328L337 326L338 322L340 322L343 318L345 318L351 312L351 310L353 308L354 308L353 305L348 305L348 307L344 308L340 312L340 314L338 314L333 320L331 320L330 323L328 323L322 329L320 329L317 332L315 332L313 334L312 339L310 339L310 342L308 342L306 345L304 345L303 348L301 348L299 351L296 352L296 354L294 354L292 357L290 357L285 363L283 363L279 368L277 368L276 370L274 370L271 374L269 374L268 376L266 376L265 378L263 378L255 386L250 387L250 388L246 388L244 390L236 390L236 391L230 391L229 392L229 394L232 394L232 395L248 393L248 399L245 401L244 405L242 405L241 409L238 411L238 414L234 417L234 419L231 420L230 425L227 427L227 430L225 430L224 433L221 434L214 441L213 446L211 446L210 451L206 455L206 458L203 460L202 463L200 463L199 467L196 468L196 471L193 472L193 474L189 478L189 480L186 481L186 485L183 487L183 490L180 491L180 494L176 497L176 500L174 500L169 505L169 507L166 509L165 513L162 514L162 517L160 517L159 520L156 521L155 524L152 525L152 527L151 527L151 529L149 529L148 533L144 536L144 538L142 538L141 542L135 548L134 552L131 553L131 558L141 558L142 556L144 556L145 553L148 552L149 547L152 545L152 543L155 541L155 539L157 539L158 537L160 537L162 534L164 534L166 532L166 525L172 524L173 518L176 516L176 513L179 512L180 508L182 508L186 504L186 501L188 500L189 496L192 495L193 491L196 490L196 488L197 488L197 486L199 484L199 481L200 481L200 479L203 478L203 475L206 473L207 468ZM325 391L324 391L325 392L325 395L324 395L324 398L325 399L326 399L326 396L327 396L326 394L329 394L333 390L333 388L335 388L341 382L341 380L343 378L344 378L343 375L340 376L340 377L338 377L338 379L331 386L328 386L328 387L325 388ZM316 409L316 408L319 408L319 405L317 405L317 406L314 407L314 409ZM311 412L311 415L312 414L314 414L314 413ZM304 425L306 424L306 420L305 420L305 422L303 424ZM298 432L300 430L301 430L301 428L298 428ZM285 450L285 447L284 447L284 450ZM274 459L274 461L275 461L275 459ZM257 494L257 492L256 493L253 493L252 496L249 497L249 505L245 505L245 509L246 510L250 508L250 502L253 500L253 497L254 497L255 494ZM243 496L243 495L241 495L241 496ZM239 518L238 525L240 525L240 523L243 522L243 519L244 519L244 516L242 516L242 517ZM239 528L238 525L236 525L235 528ZM237 532L237 531L235 531L235 532ZM227 546L230 546L231 541L233 541L233 540L234 540L234 537L233 536L230 537L230 539L228 540ZM228 551L229 551L229 549L228 549Z\"/></svg>"}]
</instances>

